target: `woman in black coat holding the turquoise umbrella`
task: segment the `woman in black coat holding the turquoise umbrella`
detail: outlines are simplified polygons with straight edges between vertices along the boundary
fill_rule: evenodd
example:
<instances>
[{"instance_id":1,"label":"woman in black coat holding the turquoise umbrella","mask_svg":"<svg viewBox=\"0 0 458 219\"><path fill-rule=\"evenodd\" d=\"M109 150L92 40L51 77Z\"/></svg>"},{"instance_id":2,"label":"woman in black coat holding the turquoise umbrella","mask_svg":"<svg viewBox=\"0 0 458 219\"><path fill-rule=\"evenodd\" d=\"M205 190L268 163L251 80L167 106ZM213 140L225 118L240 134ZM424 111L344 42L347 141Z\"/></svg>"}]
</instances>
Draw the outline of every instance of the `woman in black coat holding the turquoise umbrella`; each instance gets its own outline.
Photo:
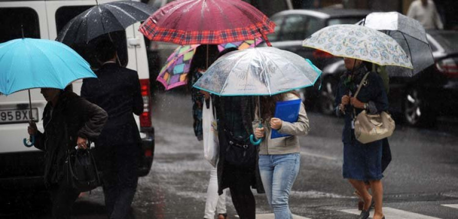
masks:
<instances>
[{"instance_id":1,"label":"woman in black coat holding the turquoise umbrella","mask_svg":"<svg viewBox=\"0 0 458 219\"><path fill-rule=\"evenodd\" d=\"M35 147L45 151L45 184L51 192L52 217L69 218L79 192L67 182L66 158L75 146L85 149L102 131L107 114L99 106L69 90L42 88L48 103L43 112L44 132L30 123L27 131L35 136Z\"/></svg>"}]
</instances>

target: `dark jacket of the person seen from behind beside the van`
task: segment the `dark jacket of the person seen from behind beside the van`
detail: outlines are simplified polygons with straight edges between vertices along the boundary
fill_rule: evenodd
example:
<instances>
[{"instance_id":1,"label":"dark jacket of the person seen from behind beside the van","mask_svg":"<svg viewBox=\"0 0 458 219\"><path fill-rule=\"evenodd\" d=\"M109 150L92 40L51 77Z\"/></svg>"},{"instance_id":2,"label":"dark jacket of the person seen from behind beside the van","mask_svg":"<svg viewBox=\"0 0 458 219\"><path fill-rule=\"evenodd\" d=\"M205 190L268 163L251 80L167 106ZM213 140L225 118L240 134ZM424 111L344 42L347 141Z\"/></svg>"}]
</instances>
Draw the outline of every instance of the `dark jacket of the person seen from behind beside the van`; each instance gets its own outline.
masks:
<instances>
[{"instance_id":1,"label":"dark jacket of the person seen from behind beside the van","mask_svg":"<svg viewBox=\"0 0 458 219\"><path fill-rule=\"evenodd\" d=\"M81 96L102 107L108 121L96 141L97 147L138 144L140 133L133 117L143 112L137 72L115 63L105 63L96 78L84 79Z\"/></svg>"}]
</instances>

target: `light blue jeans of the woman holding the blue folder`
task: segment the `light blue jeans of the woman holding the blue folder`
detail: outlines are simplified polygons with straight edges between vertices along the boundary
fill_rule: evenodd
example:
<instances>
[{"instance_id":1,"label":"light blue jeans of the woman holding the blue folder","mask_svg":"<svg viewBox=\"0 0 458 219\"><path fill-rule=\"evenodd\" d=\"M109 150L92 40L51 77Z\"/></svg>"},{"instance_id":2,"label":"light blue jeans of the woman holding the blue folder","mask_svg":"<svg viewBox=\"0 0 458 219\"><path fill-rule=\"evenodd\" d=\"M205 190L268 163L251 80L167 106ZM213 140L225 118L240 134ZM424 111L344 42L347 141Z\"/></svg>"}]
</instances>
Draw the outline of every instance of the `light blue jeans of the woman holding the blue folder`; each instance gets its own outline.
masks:
<instances>
[{"instance_id":1,"label":"light blue jeans of the woman holding the blue folder","mask_svg":"<svg viewBox=\"0 0 458 219\"><path fill-rule=\"evenodd\" d=\"M261 179L275 219L293 218L288 202L299 173L300 157L299 153L259 156Z\"/></svg>"}]
</instances>

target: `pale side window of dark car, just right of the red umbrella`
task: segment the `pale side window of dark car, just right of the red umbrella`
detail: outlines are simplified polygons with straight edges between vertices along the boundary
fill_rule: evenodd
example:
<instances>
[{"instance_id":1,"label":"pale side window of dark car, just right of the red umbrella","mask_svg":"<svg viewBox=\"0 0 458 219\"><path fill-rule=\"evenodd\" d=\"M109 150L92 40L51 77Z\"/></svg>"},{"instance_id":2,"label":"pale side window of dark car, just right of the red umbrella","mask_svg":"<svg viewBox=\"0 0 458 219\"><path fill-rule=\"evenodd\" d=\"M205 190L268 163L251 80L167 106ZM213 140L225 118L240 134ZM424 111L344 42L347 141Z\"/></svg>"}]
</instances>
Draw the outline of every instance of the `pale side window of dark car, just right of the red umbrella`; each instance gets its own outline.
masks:
<instances>
[{"instance_id":1,"label":"pale side window of dark car, just right of the red umbrella","mask_svg":"<svg viewBox=\"0 0 458 219\"><path fill-rule=\"evenodd\" d=\"M307 17L302 15L288 16L282 26L281 40L304 40L307 31Z\"/></svg>"}]
</instances>

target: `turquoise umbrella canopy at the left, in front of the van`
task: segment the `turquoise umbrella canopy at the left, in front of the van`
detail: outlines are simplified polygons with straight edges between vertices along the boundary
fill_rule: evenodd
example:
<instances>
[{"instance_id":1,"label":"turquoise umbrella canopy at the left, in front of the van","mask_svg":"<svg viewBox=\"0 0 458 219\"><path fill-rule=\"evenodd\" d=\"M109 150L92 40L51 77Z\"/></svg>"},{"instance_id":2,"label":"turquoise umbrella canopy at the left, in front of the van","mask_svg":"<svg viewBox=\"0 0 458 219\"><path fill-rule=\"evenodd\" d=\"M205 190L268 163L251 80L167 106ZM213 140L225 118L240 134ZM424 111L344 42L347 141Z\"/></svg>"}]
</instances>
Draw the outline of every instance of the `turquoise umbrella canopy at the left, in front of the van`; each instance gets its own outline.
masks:
<instances>
[{"instance_id":1,"label":"turquoise umbrella canopy at the left, in front of the van","mask_svg":"<svg viewBox=\"0 0 458 219\"><path fill-rule=\"evenodd\" d=\"M0 92L31 88L64 89L83 78L97 78L70 47L50 40L16 39L0 44Z\"/></svg>"}]
</instances>

